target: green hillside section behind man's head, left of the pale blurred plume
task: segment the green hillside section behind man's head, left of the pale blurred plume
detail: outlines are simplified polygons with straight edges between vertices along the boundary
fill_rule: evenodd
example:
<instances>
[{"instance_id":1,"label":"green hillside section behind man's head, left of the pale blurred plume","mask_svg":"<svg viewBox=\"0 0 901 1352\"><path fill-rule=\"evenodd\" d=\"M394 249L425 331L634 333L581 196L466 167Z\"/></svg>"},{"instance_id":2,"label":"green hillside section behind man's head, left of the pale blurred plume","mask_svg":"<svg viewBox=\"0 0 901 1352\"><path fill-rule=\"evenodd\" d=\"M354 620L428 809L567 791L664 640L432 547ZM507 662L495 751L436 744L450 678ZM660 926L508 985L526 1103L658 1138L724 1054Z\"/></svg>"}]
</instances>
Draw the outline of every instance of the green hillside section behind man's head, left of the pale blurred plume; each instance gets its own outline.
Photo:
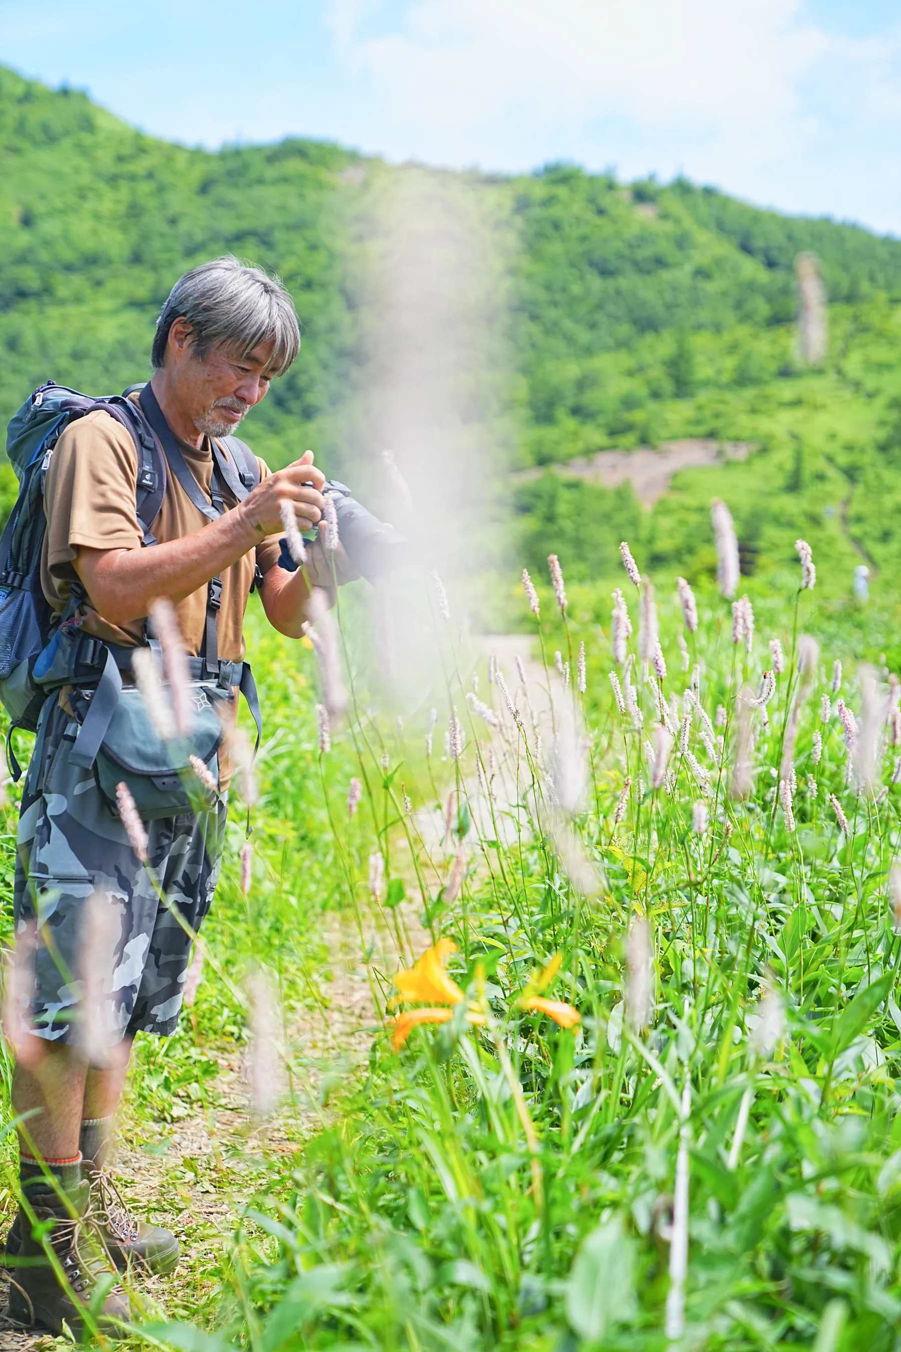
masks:
<instances>
[{"instance_id":1,"label":"green hillside section behind man's head, left of the pale blurred plume","mask_svg":"<svg viewBox=\"0 0 901 1352\"><path fill-rule=\"evenodd\" d=\"M96 391L143 379L176 277L236 253L284 276L307 337L257 439L315 441L354 347L332 222L353 158L296 141L186 150L0 69L0 416L47 377Z\"/></svg>"}]
</instances>

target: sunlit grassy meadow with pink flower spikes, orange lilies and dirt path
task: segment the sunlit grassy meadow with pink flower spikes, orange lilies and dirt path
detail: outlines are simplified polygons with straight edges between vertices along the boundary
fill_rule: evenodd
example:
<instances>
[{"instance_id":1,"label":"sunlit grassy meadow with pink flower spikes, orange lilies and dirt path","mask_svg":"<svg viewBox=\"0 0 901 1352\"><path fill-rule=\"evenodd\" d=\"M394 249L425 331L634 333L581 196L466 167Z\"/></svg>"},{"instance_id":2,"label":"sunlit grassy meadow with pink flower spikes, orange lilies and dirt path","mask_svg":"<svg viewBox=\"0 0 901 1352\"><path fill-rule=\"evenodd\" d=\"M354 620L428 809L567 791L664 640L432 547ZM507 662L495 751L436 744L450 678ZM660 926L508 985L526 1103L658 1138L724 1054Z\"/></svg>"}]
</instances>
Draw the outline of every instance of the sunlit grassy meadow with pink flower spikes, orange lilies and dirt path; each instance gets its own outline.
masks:
<instances>
[{"instance_id":1,"label":"sunlit grassy meadow with pink flower spikes, orange lilies and dirt path","mask_svg":"<svg viewBox=\"0 0 901 1352\"><path fill-rule=\"evenodd\" d=\"M689 633L661 587L662 680L625 573L625 662L609 589L561 617L536 579L540 627L520 592L525 685L467 658L451 595L423 637L446 673L431 756L428 710L400 729L361 672L320 752L315 654L251 614L253 883L235 799L196 1002L139 1040L123 1117L126 1190L155 1178L186 1249L136 1343L894 1348L898 615L800 579L751 580L738 644L716 591ZM185 1151L192 1125L212 1152ZM7 1207L12 1176L9 1156Z\"/></svg>"}]
</instances>

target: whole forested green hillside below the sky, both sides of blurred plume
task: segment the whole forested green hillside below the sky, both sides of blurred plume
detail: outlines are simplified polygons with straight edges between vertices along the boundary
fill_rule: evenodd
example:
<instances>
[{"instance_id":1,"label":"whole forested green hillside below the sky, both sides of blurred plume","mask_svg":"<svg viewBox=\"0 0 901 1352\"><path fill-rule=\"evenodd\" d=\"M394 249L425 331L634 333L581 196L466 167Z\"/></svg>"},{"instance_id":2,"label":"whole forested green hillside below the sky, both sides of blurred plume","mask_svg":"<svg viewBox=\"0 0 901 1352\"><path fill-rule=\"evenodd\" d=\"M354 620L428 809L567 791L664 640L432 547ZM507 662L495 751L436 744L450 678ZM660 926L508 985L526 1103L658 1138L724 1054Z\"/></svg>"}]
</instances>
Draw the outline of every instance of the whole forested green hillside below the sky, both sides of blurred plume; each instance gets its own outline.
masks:
<instances>
[{"instance_id":1,"label":"whole forested green hillside below the sky, both sides of blurred plume","mask_svg":"<svg viewBox=\"0 0 901 1352\"><path fill-rule=\"evenodd\" d=\"M299 139L217 154L168 145L81 93L0 69L0 415L47 377L112 391L146 376L176 276L234 251L281 273L305 335L253 415L254 443L274 462L305 445L335 462L358 365L359 201L400 172ZM686 181L627 187L557 165L477 187L517 243L521 466L685 437L755 448L742 464L684 472L650 512L628 485L550 472L517 483L534 561L558 546L574 575L604 573L628 527L648 565L700 580L711 556L698 527L719 492L758 566L779 564L793 531L828 552L839 589L862 560L874 579L901 565L900 242ZM796 360L801 250L820 258L832 301L821 372Z\"/></svg>"}]
</instances>

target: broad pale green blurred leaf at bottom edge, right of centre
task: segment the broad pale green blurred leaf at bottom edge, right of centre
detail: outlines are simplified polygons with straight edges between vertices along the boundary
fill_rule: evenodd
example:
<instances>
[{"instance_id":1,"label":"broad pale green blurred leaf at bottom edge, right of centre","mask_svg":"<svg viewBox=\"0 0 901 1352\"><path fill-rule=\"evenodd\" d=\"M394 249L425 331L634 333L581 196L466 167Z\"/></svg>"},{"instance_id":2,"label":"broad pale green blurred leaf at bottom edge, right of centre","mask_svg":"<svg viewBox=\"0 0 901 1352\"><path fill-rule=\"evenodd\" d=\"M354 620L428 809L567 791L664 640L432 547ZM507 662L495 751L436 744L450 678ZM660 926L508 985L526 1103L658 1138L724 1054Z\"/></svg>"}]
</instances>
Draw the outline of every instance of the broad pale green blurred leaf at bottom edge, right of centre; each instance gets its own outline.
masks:
<instances>
[{"instance_id":1,"label":"broad pale green blurred leaf at bottom edge, right of centre","mask_svg":"<svg viewBox=\"0 0 901 1352\"><path fill-rule=\"evenodd\" d=\"M566 1317L580 1337L600 1343L635 1309L634 1244L619 1215L584 1240L566 1283Z\"/></svg>"}]
</instances>

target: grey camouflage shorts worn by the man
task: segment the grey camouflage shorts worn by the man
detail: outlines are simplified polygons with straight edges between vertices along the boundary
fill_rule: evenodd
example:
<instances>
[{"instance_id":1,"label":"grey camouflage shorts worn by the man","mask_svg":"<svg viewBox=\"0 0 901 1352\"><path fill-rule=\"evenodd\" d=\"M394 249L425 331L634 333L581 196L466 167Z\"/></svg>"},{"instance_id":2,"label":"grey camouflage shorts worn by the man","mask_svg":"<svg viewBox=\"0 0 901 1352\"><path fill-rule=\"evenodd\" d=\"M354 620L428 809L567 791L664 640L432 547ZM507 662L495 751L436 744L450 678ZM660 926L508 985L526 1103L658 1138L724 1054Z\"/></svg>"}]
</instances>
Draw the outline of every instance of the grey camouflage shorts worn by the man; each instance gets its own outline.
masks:
<instances>
[{"instance_id":1,"label":"grey camouflage shorts worn by the man","mask_svg":"<svg viewBox=\"0 0 901 1352\"><path fill-rule=\"evenodd\" d=\"M85 990L108 1042L178 1022L190 938L159 902L92 771L69 753L78 725L50 698L22 795L14 894L16 936L36 922L34 979L22 1014L50 1041L80 1041ZM222 864L226 808L147 822L150 865L196 932ZM30 994L28 994L30 990Z\"/></svg>"}]
</instances>

